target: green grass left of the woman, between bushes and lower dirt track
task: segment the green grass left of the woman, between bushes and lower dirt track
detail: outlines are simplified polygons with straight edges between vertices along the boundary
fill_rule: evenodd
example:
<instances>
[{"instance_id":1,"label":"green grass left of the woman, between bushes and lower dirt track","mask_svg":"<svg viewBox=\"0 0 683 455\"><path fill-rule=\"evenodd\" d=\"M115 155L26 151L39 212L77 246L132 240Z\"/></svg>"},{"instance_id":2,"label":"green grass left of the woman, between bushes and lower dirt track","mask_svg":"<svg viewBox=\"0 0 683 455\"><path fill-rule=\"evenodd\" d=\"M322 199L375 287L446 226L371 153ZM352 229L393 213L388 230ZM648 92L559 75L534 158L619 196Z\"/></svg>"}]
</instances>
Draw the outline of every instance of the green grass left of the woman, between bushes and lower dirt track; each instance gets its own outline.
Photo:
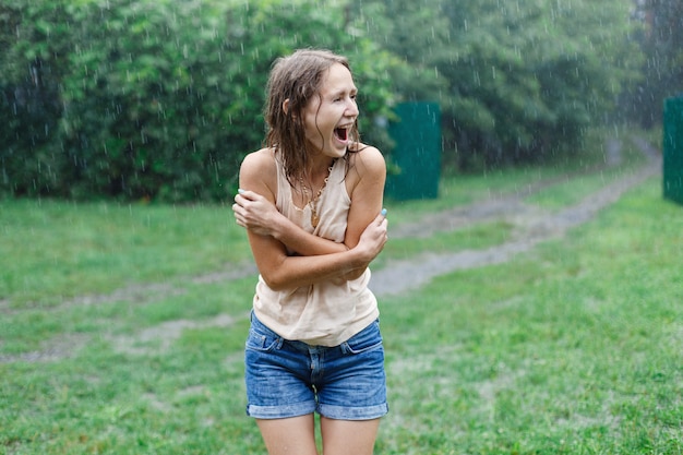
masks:
<instances>
[{"instance_id":1,"label":"green grass left of the woman, between bushes and lower dirt track","mask_svg":"<svg viewBox=\"0 0 683 455\"><path fill-rule=\"evenodd\" d=\"M229 206L0 202L0 300L56 304L249 261Z\"/></svg>"}]
</instances>

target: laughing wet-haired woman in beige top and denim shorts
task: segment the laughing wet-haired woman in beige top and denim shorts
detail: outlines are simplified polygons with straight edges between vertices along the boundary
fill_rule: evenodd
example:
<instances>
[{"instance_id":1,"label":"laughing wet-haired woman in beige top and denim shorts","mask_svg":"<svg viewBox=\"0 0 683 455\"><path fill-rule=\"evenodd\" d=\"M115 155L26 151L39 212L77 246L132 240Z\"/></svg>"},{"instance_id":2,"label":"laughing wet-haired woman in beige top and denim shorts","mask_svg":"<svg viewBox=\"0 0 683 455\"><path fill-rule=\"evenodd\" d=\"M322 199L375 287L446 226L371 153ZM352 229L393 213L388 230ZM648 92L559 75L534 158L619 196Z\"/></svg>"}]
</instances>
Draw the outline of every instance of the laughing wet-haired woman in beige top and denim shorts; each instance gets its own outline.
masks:
<instances>
[{"instance_id":1,"label":"laughing wet-haired woman in beige top and denim shorts","mask_svg":"<svg viewBox=\"0 0 683 455\"><path fill-rule=\"evenodd\" d=\"M247 412L268 454L372 454L387 410L368 265L386 242L382 154L359 142L346 58L299 50L267 85L266 146L232 206L260 277L245 349Z\"/></svg>"}]
</instances>

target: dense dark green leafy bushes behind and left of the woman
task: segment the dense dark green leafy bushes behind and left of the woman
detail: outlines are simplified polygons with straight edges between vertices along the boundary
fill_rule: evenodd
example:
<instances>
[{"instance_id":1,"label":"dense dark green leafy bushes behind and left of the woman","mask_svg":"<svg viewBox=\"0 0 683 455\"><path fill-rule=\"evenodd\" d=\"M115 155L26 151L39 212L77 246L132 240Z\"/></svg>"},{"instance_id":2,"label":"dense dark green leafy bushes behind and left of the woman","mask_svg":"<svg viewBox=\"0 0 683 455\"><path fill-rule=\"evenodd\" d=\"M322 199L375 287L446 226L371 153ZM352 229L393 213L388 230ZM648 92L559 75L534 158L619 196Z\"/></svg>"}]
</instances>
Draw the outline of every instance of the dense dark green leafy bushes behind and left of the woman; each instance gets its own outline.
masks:
<instances>
[{"instance_id":1,"label":"dense dark green leafy bushes behind and left of the woman","mask_svg":"<svg viewBox=\"0 0 683 455\"><path fill-rule=\"evenodd\" d=\"M397 62L360 31L349 34L335 4L13 0L10 10L16 33L3 36L0 63L49 65L61 106L50 141L12 145L21 153L0 181L10 194L225 199L263 137L271 64L297 47L350 53L364 123L392 99L383 74Z\"/></svg>"}]
</instances>

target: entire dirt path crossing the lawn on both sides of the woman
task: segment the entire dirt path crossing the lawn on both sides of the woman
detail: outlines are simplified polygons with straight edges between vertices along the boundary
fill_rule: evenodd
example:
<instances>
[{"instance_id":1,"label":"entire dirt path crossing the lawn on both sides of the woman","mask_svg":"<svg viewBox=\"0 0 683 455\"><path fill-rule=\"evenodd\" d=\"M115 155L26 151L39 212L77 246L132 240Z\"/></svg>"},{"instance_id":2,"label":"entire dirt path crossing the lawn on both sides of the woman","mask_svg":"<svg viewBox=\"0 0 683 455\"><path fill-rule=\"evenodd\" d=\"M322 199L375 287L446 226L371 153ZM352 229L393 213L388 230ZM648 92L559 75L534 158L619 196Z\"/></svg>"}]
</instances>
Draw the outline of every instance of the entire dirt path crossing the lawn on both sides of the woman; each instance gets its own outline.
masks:
<instances>
[{"instance_id":1,"label":"entire dirt path crossing the lawn on both sides of the woman","mask_svg":"<svg viewBox=\"0 0 683 455\"><path fill-rule=\"evenodd\" d=\"M513 224L514 236L511 241L486 250L462 251L450 254L426 253L414 256L410 260L390 261L382 270L373 273L370 283L371 289L380 298L400 294L423 286L436 276L457 270L508 261L515 254L530 251L541 241L563 236L567 229L589 220L599 209L619 200L626 190L661 171L661 156L659 152L642 139L634 137L633 141L648 157L648 161L644 167L633 173L624 175L600 191L590 194L580 203L566 207L559 213L542 212L524 203L526 196L556 183L554 180L547 180L530 185L511 196L479 201L470 206L440 212L426 216L414 224L402 225L392 229L390 231L392 238L428 237L436 231L453 230L472 223L504 219ZM607 144L608 166L620 163L620 149L621 143L619 142L610 141ZM255 273L256 268L252 263L238 264L229 271L190 277L188 282L193 284L226 282L251 276ZM184 288L170 284L135 285L109 295L84 296L70 299L58 307L45 311L63 310L72 307L113 304L121 301L144 304L163 297L183 292ZM0 313L14 311L17 310L9 310L7 306L0 304ZM182 334L184 328L227 327L241 318L247 316L248 312L243 315L219 314L214 319L201 322L188 320L168 321L156 327L146 328L133 337L109 336L109 340L115 349L119 351L131 355L147 354L148 349L139 347L140 343L144 345L149 340L158 340L160 343L156 344L159 346L156 349L164 350L171 345L173 339ZM87 342L86 337L64 334L59 339L49 340L45 349L38 351L13 356L0 354L0 363L59 360L73 356Z\"/></svg>"}]
</instances>

